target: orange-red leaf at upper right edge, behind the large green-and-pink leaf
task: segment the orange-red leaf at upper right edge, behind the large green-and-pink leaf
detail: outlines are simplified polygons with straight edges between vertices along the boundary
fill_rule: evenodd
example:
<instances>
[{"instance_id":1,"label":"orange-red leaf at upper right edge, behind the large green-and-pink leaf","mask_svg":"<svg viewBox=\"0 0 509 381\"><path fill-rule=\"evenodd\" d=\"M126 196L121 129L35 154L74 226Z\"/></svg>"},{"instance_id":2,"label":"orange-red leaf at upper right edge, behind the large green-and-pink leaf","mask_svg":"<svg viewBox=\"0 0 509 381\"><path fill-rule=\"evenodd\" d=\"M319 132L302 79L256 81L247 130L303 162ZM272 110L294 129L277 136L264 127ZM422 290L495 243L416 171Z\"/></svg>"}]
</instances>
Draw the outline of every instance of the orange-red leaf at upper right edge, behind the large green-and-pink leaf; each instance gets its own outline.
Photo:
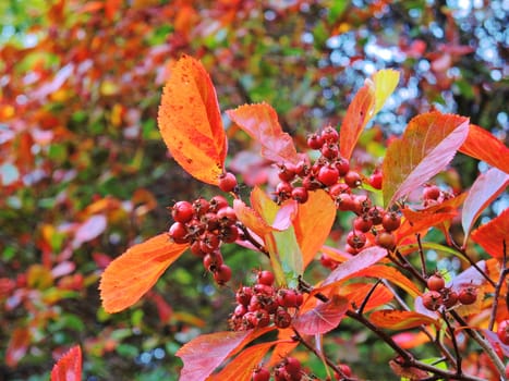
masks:
<instances>
[{"instance_id":1,"label":"orange-red leaf at upper right edge, behind the large green-and-pink leaf","mask_svg":"<svg viewBox=\"0 0 509 381\"><path fill-rule=\"evenodd\" d=\"M460 152L487 162L509 173L509 148L486 130L471 124Z\"/></svg>"}]
</instances>

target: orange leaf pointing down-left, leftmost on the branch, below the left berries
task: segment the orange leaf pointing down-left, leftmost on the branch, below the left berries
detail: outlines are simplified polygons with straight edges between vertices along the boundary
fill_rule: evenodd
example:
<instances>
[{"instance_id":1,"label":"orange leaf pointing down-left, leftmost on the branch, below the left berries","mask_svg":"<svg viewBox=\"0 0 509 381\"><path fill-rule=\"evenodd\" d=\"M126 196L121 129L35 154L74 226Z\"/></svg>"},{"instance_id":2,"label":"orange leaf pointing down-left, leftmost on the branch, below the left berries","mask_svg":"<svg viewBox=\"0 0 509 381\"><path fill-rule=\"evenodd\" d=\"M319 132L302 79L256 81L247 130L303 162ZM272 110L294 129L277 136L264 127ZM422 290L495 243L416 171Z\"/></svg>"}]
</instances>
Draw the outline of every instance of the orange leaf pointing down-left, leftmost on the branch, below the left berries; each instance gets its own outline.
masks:
<instances>
[{"instance_id":1,"label":"orange leaf pointing down-left, leftmost on the branch, below the left berries","mask_svg":"<svg viewBox=\"0 0 509 381\"><path fill-rule=\"evenodd\" d=\"M100 280L105 310L118 312L140 300L187 247L171 242L168 234L162 233L116 258Z\"/></svg>"}]
</instances>

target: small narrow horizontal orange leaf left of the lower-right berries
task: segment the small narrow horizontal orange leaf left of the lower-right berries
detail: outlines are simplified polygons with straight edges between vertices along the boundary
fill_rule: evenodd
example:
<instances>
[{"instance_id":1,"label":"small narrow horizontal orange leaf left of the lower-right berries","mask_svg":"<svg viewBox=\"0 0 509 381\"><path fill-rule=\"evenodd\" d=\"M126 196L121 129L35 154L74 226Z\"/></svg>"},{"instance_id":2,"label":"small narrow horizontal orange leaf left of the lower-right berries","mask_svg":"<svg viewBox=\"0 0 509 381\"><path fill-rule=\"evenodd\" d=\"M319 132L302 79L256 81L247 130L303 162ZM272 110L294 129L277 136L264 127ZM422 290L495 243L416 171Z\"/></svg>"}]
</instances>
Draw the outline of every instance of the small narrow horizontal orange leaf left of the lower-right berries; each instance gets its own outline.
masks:
<instances>
[{"instance_id":1,"label":"small narrow horizontal orange leaf left of the lower-right berries","mask_svg":"<svg viewBox=\"0 0 509 381\"><path fill-rule=\"evenodd\" d=\"M393 309L374 311L369 316L369 321L375 325L390 330L408 330L423 324L438 324L435 319L426 315L414 311L397 311Z\"/></svg>"}]
</instances>

